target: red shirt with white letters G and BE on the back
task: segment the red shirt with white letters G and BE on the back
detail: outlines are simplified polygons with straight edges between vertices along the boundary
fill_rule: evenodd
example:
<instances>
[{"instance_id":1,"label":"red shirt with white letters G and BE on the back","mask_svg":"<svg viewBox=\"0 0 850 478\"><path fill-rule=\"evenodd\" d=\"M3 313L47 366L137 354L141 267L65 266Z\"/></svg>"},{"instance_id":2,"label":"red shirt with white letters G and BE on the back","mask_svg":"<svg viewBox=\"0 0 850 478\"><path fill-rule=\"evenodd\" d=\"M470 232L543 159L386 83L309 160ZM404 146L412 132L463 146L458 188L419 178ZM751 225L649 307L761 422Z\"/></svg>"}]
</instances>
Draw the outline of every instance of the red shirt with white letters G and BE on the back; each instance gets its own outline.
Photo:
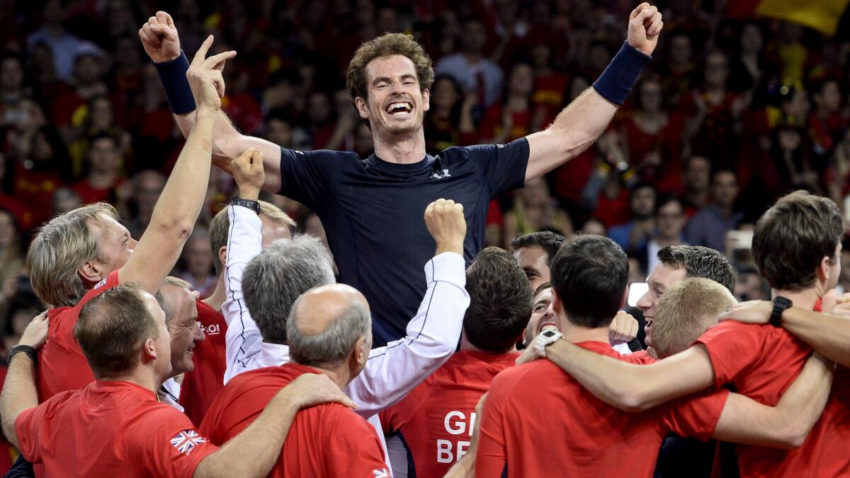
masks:
<instances>
[{"instance_id":1,"label":"red shirt with white letters G and BE on the back","mask_svg":"<svg viewBox=\"0 0 850 478\"><path fill-rule=\"evenodd\" d=\"M404 400L380 413L384 432L398 432L410 449L408 470L416 469L421 477L443 476L466 454L475 405L493 378L513 367L518 356L461 350Z\"/></svg>"}]
</instances>

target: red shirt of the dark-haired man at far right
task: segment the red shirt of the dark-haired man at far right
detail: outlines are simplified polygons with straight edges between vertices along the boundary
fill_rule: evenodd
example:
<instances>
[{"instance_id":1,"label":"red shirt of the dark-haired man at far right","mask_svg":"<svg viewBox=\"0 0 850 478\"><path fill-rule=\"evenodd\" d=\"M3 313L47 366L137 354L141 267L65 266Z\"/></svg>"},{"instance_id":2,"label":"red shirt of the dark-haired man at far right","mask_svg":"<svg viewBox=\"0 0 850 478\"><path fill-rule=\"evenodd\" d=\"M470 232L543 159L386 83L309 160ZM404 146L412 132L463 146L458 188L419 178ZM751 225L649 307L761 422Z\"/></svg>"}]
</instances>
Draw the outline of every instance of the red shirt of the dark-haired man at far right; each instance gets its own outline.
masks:
<instances>
[{"instance_id":1,"label":"red shirt of the dark-haired man at far right","mask_svg":"<svg viewBox=\"0 0 850 478\"><path fill-rule=\"evenodd\" d=\"M718 385L773 407L802 370L812 349L783 328L721 322L704 333ZM718 415L719 417L719 415ZM850 475L850 377L839 367L824 414L802 447L781 450L738 446L743 477Z\"/></svg>"}]
</instances>

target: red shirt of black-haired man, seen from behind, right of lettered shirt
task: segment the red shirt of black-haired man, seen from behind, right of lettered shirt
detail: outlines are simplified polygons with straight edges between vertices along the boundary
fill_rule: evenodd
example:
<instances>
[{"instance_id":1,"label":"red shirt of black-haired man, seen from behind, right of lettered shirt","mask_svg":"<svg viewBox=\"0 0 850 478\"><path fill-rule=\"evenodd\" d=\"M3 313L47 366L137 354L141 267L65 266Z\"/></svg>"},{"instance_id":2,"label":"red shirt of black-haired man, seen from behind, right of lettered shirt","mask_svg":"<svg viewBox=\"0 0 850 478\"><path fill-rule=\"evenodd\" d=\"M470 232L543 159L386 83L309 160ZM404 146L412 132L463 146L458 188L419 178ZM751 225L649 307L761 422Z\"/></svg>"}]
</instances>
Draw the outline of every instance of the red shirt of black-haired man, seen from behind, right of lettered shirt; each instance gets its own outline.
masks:
<instances>
[{"instance_id":1,"label":"red shirt of black-haired man, seen from behind, right of lettered shirt","mask_svg":"<svg viewBox=\"0 0 850 478\"><path fill-rule=\"evenodd\" d=\"M609 344L576 344L621 361ZM500 373L484 402L478 477L651 476L668 432L707 440L717 426L728 390L692 395L643 413L609 407L551 361Z\"/></svg>"}]
</instances>

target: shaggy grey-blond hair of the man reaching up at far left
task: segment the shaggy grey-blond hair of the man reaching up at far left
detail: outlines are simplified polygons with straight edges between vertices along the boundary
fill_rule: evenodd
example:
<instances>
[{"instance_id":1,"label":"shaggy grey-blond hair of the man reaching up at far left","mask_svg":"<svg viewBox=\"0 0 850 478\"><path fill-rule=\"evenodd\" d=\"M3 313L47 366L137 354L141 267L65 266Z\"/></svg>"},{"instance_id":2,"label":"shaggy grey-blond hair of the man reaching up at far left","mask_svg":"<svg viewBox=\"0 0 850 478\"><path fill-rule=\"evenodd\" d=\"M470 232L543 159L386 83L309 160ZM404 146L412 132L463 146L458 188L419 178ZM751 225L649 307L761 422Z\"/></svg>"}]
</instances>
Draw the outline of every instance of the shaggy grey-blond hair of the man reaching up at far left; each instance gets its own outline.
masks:
<instances>
[{"instance_id":1,"label":"shaggy grey-blond hair of the man reaching up at far left","mask_svg":"<svg viewBox=\"0 0 850 478\"><path fill-rule=\"evenodd\" d=\"M104 215L118 219L115 208L105 202L89 204L59 214L42 225L26 253L32 288L46 304L73 306L94 284L83 282L80 267L103 260L91 223L105 225Z\"/></svg>"}]
</instances>

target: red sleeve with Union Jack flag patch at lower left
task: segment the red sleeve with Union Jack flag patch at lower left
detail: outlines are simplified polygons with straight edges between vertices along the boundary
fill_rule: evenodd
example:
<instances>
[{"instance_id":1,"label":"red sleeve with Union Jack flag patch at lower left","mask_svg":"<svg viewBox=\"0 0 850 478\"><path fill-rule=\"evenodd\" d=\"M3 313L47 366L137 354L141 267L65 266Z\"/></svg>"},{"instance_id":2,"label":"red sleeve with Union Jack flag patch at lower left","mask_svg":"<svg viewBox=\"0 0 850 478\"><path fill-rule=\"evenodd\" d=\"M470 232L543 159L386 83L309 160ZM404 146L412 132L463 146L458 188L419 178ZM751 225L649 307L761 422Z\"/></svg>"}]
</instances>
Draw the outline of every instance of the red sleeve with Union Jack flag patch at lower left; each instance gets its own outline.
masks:
<instances>
[{"instance_id":1,"label":"red sleeve with Union Jack flag patch at lower left","mask_svg":"<svg viewBox=\"0 0 850 478\"><path fill-rule=\"evenodd\" d=\"M125 424L121 445L139 475L191 477L201 460L218 451L189 418L158 403Z\"/></svg>"}]
</instances>

